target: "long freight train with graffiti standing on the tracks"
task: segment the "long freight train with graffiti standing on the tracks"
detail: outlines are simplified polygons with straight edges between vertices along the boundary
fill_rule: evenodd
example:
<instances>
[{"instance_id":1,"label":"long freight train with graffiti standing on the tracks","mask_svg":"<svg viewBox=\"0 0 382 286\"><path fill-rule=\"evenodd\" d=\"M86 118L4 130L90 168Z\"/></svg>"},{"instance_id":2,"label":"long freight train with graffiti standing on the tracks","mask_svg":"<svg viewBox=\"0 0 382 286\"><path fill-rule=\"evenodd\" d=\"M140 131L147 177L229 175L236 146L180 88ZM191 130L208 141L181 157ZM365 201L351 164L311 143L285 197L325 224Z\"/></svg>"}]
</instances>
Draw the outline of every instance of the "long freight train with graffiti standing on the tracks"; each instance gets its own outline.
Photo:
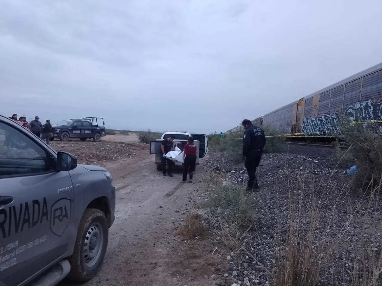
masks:
<instances>
[{"instance_id":1,"label":"long freight train with graffiti standing on the tracks","mask_svg":"<svg viewBox=\"0 0 382 286\"><path fill-rule=\"evenodd\" d=\"M381 107L382 63L258 117L253 122L260 126L268 125L278 134L326 136L339 131L339 114L346 114L352 120L382 122ZM240 130L240 126L231 130Z\"/></svg>"}]
</instances>

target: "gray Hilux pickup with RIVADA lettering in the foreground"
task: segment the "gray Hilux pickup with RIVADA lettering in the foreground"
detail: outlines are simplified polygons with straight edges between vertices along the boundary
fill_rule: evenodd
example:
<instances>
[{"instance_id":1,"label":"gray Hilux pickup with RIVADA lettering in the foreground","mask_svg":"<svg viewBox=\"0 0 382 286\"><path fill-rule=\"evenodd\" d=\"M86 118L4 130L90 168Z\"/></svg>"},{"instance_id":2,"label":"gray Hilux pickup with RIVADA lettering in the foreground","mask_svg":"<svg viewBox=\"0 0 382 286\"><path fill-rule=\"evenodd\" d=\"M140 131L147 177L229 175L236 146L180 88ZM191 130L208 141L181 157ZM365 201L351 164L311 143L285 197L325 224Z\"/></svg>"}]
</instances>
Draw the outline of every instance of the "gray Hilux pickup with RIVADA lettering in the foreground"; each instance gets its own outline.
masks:
<instances>
[{"instance_id":1,"label":"gray Hilux pickup with RIVADA lettering in the foreground","mask_svg":"<svg viewBox=\"0 0 382 286\"><path fill-rule=\"evenodd\" d=\"M94 277L114 222L102 167L77 165L0 116L0 286L53 286Z\"/></svg>"}]
</instances>

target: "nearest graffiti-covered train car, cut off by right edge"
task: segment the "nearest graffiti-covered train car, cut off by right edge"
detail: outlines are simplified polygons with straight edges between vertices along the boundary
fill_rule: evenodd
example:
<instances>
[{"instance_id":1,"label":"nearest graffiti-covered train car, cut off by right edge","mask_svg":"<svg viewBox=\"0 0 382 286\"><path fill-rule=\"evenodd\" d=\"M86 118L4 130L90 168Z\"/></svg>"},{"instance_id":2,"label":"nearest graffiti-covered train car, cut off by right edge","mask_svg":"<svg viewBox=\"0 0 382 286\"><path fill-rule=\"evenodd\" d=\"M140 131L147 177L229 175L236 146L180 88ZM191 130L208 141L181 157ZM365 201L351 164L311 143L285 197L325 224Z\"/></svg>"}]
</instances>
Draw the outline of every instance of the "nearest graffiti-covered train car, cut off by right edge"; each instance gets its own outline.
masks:
<instances>
[{"instance_id":1,"label":"nearest graffiti-covered train car, cut off by right edge","mask_svg":"<svg viewBox=\"0 0 382 286\"><path fill-rule=\"evenodd\" d=\"M304 98L301 132L330 135L340 130L339 115L361 121L382 120L382 63Z\"/></svg>"}]
</instances>

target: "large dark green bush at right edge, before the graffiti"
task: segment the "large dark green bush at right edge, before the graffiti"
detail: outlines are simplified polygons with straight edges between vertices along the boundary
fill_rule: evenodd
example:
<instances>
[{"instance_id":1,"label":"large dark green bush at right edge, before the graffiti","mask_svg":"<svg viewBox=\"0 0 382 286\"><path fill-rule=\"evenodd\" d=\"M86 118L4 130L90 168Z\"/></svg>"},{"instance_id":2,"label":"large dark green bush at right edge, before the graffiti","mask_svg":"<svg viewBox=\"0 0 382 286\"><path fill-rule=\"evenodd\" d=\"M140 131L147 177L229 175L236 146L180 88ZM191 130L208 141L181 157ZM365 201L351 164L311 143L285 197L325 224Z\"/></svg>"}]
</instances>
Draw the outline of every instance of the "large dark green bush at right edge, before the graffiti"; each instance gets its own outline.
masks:
<instances>
[{"instance_id":1,"label":"large dark green bush at right edge, before the graffiti","mask_svg":"<svg viewBox=\"0 0 382 286\"><path fill-rule=\"evenodd\" d=\"M337 135L337 148L345 143L349 146L337 154L339 161L357 165L353 186L365 190L369 186L378 185L382 179L382 140L379 133L380 124L356 123L340 117L340 134ZM343 143L340 143L343 142ZM351 167L351 165L348 165Z\"/></svg>"}]
</instances>

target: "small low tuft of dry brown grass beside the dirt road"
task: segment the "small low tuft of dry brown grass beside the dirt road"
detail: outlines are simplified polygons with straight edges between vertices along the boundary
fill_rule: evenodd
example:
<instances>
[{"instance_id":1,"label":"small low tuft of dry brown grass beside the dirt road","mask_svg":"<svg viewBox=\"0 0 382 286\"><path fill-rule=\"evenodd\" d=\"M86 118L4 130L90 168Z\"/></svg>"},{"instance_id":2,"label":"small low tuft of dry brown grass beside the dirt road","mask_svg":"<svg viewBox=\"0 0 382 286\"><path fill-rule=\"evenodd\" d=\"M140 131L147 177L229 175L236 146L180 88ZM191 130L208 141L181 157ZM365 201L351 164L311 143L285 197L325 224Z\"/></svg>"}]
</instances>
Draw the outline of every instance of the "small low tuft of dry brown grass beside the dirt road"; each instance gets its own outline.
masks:
<instances>
[{"instance_id":1,"label":"small low tuft of dry brown grass beside the dirt road","mask_svg":"<svg viewBox=\"0 0 382 286\"><path fill-rule=\"evenodd\" d=\"M203 223L203 218L200 214L191 213L186 216L185 225L179 228L177 234L188 240L206 238L209 235L209 229Z\"/></svg>"}]
</instances>

